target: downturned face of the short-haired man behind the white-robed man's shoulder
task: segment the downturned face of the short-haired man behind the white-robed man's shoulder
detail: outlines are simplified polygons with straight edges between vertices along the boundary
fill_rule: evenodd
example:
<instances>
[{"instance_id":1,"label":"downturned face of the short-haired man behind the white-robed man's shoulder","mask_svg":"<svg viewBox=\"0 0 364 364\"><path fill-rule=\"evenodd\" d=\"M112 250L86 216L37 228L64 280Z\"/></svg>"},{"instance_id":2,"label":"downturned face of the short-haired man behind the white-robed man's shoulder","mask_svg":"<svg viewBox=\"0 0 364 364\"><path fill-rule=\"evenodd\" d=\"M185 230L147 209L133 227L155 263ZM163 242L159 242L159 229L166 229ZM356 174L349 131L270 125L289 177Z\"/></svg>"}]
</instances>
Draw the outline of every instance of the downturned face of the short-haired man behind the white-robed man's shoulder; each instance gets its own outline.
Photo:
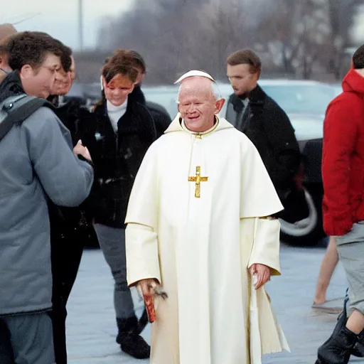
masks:
<instances>
[{"instance_id":1,"label":"downturned face of the short-haired man behind the white-robed man's shoulder","mask_svg":"<svg viewBox=\"0 0 364 364\"><path fill-rule=\"evenodd\" d=\"M250 65L228 65L227 75L235 95L244 95L257 87L258 73L250 73Z\"/></svg>"}]
</instances>

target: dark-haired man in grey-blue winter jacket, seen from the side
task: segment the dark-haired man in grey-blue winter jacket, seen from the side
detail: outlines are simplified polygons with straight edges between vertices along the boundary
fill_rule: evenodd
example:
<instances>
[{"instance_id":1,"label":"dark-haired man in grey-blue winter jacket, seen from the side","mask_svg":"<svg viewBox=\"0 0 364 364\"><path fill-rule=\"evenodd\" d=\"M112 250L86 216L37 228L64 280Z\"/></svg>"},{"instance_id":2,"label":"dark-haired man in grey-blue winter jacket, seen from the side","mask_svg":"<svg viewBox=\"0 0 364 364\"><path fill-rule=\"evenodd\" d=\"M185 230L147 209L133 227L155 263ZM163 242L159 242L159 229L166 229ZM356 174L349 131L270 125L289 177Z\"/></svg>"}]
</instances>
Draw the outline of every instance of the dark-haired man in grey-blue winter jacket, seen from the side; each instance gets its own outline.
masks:
<instances>
[{"instance_id":1,"label":"dark-haired man in grey-blue winter jacket, seen from the side","mask_svg":"<svg viewBox=\"0 0 364 364\"><path fill-rule=\"evenodd\" d=\"M7 44L14 72L1 82L0 103L22 93L48 97L59 77L59 43L24 32ZM1 364L55 361L47 314L52 306L47 199L80 205L93 182L87 159L82 144L72 150L68 129L48 107L15 124L0 141Z\"/></svg>"}]
</instances>

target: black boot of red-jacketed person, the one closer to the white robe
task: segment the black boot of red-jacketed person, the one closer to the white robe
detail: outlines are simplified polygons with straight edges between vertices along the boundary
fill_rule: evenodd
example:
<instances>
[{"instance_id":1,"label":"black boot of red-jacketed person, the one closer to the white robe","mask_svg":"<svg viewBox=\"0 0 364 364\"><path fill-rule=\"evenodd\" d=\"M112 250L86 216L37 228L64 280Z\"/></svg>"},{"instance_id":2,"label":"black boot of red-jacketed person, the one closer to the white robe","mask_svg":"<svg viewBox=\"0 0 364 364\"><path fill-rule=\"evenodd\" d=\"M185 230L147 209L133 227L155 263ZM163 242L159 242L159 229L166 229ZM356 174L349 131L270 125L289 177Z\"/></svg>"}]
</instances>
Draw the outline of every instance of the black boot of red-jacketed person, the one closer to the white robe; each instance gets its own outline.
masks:
<instances>
[{"instance_id":1,"label":"black boot of red-jacketed person, the one closer to the white robe","mask_svg":"<svg viewBox=\"0 0 364 364\"><path fill-rule=\"evenodd\" d=\"M348 364L357 341L358 336L348 328L335 329L328 341L320 346L316 364Z\"/></svg>"}]
</instances>

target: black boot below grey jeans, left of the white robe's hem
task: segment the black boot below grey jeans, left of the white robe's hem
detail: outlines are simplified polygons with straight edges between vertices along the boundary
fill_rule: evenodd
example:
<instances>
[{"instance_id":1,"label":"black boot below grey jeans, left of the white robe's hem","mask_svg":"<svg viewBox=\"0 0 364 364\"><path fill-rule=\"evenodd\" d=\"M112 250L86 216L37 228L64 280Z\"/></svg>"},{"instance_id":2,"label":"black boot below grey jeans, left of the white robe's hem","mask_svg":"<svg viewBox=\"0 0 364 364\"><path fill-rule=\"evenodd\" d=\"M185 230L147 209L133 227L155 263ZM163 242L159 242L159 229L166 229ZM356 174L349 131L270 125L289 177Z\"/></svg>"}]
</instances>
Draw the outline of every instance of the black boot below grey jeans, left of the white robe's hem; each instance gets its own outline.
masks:
<instances>
[{"instance_id":1,"label":"black boot below grey jeans, left of the white robe's hem","mask_svg":"<svg viewBox=\"0 0 364 364\"><path fill-rule=\"evenodd\" d=\"M117 319L117 327L119 328L117 343L120 344L124 353L137 359L149 358L151 348L139 335L137 316L129 317L129 319Z\"/></svg>"}]
</instances>

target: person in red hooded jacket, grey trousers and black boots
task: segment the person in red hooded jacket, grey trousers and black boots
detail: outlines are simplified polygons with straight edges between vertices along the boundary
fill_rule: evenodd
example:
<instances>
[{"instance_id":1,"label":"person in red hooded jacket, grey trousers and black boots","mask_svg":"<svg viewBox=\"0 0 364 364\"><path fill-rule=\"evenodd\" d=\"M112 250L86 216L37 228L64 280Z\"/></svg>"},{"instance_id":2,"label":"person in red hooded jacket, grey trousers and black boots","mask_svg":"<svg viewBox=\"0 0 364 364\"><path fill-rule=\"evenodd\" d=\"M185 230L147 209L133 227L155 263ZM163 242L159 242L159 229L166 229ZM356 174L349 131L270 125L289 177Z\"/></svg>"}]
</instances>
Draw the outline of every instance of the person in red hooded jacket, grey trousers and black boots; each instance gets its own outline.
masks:
<instances>
[{"instance_id":1,"label":"person in red hooded jacket, grey trousers and black boots","mask_svg":"<svg viewBox=\"0 0 364 364\"><path fill-rule=\"evenodd\" d=\"M349 284L345 326L334 329L316 364L346 364L364 343L364 45L323 123L323 228L333 236Z\"/></svg>"}]
</instances>

